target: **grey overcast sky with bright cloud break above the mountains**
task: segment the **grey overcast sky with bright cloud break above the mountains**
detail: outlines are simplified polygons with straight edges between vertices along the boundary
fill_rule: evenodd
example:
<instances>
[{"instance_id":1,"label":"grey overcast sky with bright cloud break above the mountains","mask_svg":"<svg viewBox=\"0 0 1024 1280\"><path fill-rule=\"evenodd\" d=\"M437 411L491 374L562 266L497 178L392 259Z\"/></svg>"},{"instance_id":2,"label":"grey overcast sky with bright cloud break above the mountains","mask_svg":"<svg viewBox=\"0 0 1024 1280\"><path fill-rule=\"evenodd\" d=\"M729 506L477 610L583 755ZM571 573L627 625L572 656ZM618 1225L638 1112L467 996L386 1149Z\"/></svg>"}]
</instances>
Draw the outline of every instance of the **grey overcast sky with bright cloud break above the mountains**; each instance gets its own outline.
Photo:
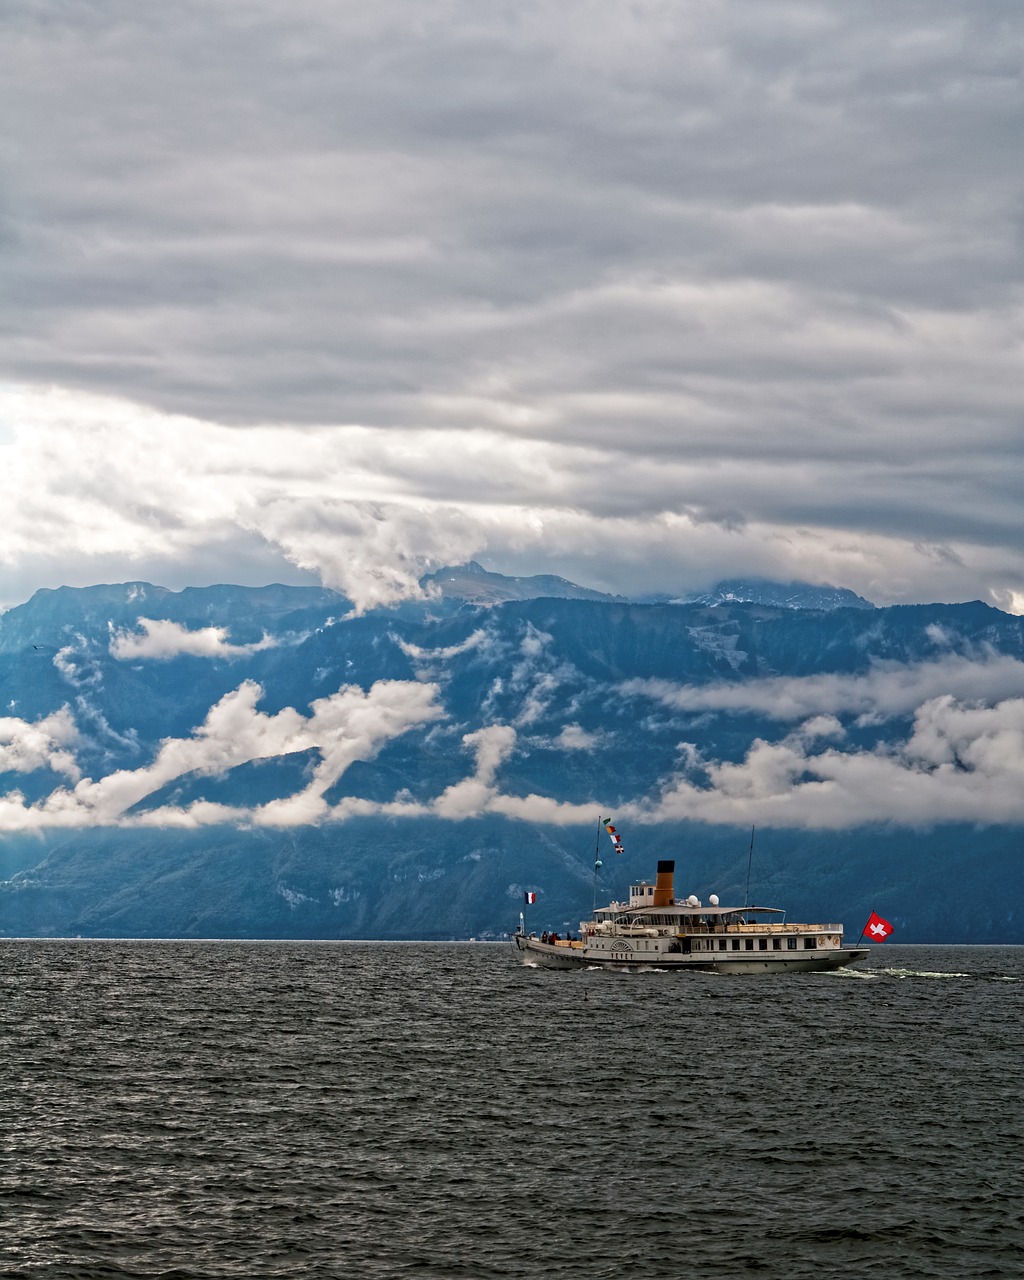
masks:
<instances>
[{"instance_id":1,"label":"grey overcast sky with bright cloud break above the mountains","mask_svg":"<svg viewBox=\"0 0 1024 1280\"><path fill-rule=\"evenodd\" d=\"M0 603L1024 611L1020 0L0 8Z\"/></svg>"}]
</instances>

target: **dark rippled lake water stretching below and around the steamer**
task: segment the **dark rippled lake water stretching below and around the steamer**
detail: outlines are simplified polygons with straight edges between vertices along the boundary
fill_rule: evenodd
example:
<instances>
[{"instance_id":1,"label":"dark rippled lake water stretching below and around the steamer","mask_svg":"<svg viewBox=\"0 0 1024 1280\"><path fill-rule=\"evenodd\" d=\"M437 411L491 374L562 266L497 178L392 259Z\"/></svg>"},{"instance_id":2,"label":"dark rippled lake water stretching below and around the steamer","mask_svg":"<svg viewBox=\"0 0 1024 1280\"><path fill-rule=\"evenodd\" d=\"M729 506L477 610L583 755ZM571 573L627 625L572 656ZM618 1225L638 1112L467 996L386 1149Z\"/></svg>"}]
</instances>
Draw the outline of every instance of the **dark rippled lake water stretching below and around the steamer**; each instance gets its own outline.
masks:
<instances>
[{"instance_id":1,"label":"dark rippled lake water stretching below and around the steamer","mask_svg":"<svg viewBox=\"0 0 1024 1280\"><path fill-rule=\"evenodd\" d=\"M0 1275L1018 1277L1021 979L4 941Z\"/></svg>"}]
</instances>

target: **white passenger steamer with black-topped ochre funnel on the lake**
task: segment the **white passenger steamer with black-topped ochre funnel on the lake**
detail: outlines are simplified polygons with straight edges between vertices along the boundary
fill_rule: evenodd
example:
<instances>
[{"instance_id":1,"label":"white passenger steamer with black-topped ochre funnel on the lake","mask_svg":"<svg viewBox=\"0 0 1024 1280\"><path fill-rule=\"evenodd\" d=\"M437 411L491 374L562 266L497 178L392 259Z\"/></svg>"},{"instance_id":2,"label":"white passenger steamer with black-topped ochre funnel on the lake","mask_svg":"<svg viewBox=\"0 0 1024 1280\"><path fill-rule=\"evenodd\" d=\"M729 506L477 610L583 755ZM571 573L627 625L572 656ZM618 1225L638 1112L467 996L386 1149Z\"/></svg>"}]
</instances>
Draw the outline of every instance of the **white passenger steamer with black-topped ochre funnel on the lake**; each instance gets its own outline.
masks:
<instances>
[{"instance_id":1,"label":"white passenger steamer with black-topped ochre funnel on the lake","mask_svg":"<svg viewBox=\"0 0 1024 1280\"><path fill-rule=\"evenodd\" d=\"M841 969L868 954L846 947L841 924L794 924L772 906L705 906L675 896L675 861L658 863L654 884L630 886L580 922L580 937L527 933L520 919L512 942L522 963L543 969L685 969L698 973L794 973Z\"/></svg>"}]
</instances>

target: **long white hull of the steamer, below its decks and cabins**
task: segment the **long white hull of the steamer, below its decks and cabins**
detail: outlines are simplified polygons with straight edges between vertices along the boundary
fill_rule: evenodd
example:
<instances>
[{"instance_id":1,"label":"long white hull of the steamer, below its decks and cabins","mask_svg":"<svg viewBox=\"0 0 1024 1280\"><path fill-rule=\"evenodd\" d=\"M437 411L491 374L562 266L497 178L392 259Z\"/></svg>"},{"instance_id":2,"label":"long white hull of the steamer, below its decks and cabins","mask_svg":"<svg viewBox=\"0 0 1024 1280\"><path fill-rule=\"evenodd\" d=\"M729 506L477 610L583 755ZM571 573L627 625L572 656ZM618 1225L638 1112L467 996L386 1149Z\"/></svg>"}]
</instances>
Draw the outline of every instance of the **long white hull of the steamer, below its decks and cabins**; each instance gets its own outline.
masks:
<instances>
[{"instance_id":1,"label":"long white hull of the steamer, below its decks and cabins","mask_svg":"<svg viewBox=\"0 0 1024 1280\"><path fill-rule=\"evenodd\" d=\"M804 952L756 952L755 955L684 955L662 954L635 956L595 954L588 947L558 946L541 942L522 933L515 933L513 941L526 965L540 969L678 969L690 973L822 973L829 969L842 969L861 960L868 948L838 947Z\"/></svg>"}]
</instances>

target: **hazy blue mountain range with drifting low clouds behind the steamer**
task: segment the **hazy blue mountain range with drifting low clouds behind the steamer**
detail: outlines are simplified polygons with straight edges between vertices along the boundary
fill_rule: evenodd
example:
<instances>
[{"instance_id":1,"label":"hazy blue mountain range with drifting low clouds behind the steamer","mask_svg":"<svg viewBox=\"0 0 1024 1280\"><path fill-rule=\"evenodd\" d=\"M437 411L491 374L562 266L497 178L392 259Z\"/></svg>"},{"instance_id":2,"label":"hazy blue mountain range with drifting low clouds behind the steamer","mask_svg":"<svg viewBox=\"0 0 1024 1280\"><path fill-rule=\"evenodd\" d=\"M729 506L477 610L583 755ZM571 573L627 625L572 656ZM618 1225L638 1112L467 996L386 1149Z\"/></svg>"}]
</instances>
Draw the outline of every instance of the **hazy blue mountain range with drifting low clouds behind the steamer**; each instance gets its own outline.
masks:
<instances>
[{"instance_id":1,"label":"hazy blue mountain range with drifting low clouds behind the steamer","mask_svg":"<svg viewBox=\"0 0 1024 1280\"><path fill-rule=\"evenodd\" d=\"M365 616L146 582L0 616L0 933L499 937L672 856L687 893L854 937L874 909L900 941L1024 942L1020 618L422 586Z\"/></svg>"}]
</instances>

